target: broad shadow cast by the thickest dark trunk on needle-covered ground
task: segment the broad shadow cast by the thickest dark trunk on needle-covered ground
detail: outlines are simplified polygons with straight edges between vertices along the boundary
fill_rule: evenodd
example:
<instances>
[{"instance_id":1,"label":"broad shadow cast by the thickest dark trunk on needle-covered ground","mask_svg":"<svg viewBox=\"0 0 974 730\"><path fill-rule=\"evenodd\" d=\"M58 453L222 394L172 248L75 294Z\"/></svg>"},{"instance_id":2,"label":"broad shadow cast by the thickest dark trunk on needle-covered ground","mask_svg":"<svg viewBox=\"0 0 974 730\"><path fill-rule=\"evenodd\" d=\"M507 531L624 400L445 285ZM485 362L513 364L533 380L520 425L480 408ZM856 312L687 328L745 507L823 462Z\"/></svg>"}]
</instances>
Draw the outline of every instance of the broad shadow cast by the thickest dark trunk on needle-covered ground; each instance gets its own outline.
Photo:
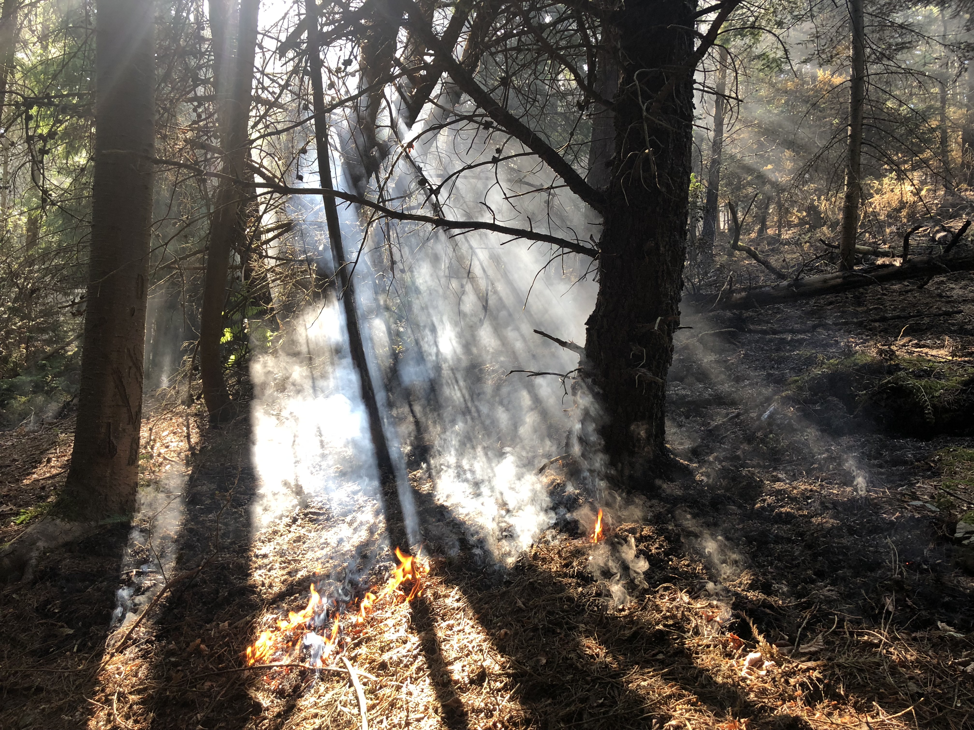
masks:
<instances>
[{"instance_id":1,"label":"broad shadow cast by the thickest dark trunk on needle-covered ground","mask_svg":"<svg viewBox=\"0 0 974 730\"><path fill-rule=\"evenodd\" d=\"M435 504L430 494L417 497L425 521L450 519L449 510ZM585 570L587 553L581 540L575 560L567 565L551 562L563 553L534 550L500 579L496 573L471 569L474 563L466 553L437 560L436 572L459 588L494 647L508 660L506 676L496 690L516 699L524 725L551 730L656 727L673 717L667 695L687 693L705 712L747 718L756 730L808 727L798 716L772 716L726 677L698 666L675 640L682 638L681 627L655 625L652 619L658 614L609 610ZM417 632L428 632L428 623L414 618ZM437 661L442 663L442 657ZM457 720L466 722L463 696L446 696L447 703L440 700L444 723L463 727Z\"/></svg>"}]
</instances>

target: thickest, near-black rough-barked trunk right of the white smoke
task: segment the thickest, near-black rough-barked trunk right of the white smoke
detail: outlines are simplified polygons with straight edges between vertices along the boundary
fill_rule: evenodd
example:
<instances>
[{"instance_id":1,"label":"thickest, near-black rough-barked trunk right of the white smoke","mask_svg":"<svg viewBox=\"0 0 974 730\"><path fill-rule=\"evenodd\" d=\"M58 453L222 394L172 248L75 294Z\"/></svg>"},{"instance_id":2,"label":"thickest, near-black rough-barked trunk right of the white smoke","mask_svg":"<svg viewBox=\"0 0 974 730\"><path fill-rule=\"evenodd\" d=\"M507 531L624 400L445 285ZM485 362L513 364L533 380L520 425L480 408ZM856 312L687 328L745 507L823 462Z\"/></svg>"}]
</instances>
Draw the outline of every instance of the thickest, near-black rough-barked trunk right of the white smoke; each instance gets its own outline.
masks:
<instances>
[{"instance_id":1,"label":"thickest, near-black rough-barked trunk right of the white smoke","mask_svg":"<svg viewBox=\"0 0 974 730\"><path fill-rule=\"evenodd\" d=\"M693 53L693 8L627 3L612 17L623 62L616 153L582 367L607 456L636 488L668 460L664 383L680 320L693 128L693 74L672 69ZM660 96L667 82L675 86ZM653 114L646 99L658 99Z\"/></svg>"}]
</instances>

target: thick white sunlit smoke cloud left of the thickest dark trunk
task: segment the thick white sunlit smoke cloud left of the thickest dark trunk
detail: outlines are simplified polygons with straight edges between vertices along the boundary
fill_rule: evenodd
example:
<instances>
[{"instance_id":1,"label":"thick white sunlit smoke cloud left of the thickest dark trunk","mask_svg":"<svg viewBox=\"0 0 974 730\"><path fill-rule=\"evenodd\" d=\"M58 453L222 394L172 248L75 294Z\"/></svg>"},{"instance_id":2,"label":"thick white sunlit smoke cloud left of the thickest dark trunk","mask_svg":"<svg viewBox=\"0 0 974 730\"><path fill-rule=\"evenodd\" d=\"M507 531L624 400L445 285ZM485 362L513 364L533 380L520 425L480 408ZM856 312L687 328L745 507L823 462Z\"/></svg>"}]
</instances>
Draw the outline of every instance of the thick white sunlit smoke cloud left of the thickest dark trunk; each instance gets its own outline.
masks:
<instances>
[{"instance_id":1,"label":"thick white sunlit smoke cloud left of the thickest dark trunk","mask_svg":"<svg viewBox=\"0 0 974 730\"><path fill-rule=\"evenodd\" d=\"M402 134L415 136L424 124ZM333 147L350 143L344 125L333 120ZM447 132L424 137L415 164L385 170L385 195L421 202L417 165L436 185L464 164L489 157L496 142L477 129L464 139ZM506 154L512 151L508 144ZM333 168L342 169L342 157L333 153ZM309 167L317 165L302 164ZM305 184L317 185L316 175L306 177ZM336 182L352 187L347 176ZM460 175L453 184L448 217L482 220L489 208L508 226L598 235L591 211L545 190L550 180L527 163L501 165L498 177ZM505 190L531 189L543 193L506 200ZM302 219L304 250L327 257L320 202L304 198L293 208ZM463 524L468 540L491 560L509 564L554 520L538 468L566 452L578 413L570 379L507 374L578 368L577 354L533 330L583 343L583 322L594 306L595 286L584 278L591 262L559 258L547 244L506 242L484 232L457 236L412 223L372 226L366 237L360 211L345 204L339 211L349 257L362 245L354 274L360 324L400 493L407 492L407 457L416 456L425 463L435 501ZM331 270L330 259L325 268ZM340 310L309 307L288 323L286 340L288 346L251 366L254 460L263 485L258 527L293 508L302 494L327 495L339 510L351 493L373 498L378 489ZM406 453L417 446L419 456ZM410 533L416 534L415 516L405 507L407 527L412 518Z\"/></svg>"}]
</instances>

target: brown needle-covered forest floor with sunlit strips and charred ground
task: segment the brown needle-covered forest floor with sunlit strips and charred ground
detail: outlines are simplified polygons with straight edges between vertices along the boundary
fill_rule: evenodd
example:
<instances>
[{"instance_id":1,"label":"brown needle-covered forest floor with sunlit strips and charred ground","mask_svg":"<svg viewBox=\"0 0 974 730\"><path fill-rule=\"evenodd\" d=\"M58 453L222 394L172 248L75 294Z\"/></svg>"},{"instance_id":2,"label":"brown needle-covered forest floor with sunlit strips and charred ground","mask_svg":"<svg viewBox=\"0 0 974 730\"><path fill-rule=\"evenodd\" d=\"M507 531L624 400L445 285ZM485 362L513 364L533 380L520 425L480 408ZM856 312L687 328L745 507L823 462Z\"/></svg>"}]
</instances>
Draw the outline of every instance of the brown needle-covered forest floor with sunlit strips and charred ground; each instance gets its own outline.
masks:
<instances>
[{"instance_id":1,"label":"brown needle-covered forest floor with sunlit strips and charred ground","mask_svg":"<svg viewBox=\"0 0 974 730\"><path fill-rule=\"evenodd\" d=\"M974 437L951 420L974 375L972 317L972 274L685 313L669 386L682 467L640 496L603 495L593 544L572 464L552 463L552 499L578 520L503 573L437 542L463 526L414 472L424 591L344 637L369 724L974 726L974 545L961 544L974 533L957 531ZM196 410L157 409L134 529L52 551L0 588L0 727L360 725L341 671L243 671L245 647L327 573L321 535L364 519L312 499L255 531L244 421L209 431ZM0 433L0 542L39 519L72 432ZM160 571L144 567L154 558ZM109 628L119 606L131 616Z\"/></svg>"}]
</instances>

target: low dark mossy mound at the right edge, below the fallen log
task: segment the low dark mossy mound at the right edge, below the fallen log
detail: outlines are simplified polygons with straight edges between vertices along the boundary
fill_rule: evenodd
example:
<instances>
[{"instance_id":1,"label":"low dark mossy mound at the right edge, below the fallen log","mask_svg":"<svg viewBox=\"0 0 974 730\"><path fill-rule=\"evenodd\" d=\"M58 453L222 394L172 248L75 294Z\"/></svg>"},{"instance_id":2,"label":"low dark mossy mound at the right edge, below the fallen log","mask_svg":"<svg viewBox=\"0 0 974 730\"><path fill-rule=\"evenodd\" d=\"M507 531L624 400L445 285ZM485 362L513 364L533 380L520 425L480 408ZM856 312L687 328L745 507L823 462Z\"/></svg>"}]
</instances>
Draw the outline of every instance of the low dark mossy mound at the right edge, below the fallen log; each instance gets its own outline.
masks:
<instances>
[{"instance_id":1,"label":"low dark mossy mound at the right edge, below the fallen log","mask_svg":"<svg viewBox=\"0 0 974 730\"><path fill-rule=\"evenodd\" d=\"M909 436L974 433L974 371L922 357L825 360L785 392L840 433L870 425Z\"/></svg>"}]
</instances>

